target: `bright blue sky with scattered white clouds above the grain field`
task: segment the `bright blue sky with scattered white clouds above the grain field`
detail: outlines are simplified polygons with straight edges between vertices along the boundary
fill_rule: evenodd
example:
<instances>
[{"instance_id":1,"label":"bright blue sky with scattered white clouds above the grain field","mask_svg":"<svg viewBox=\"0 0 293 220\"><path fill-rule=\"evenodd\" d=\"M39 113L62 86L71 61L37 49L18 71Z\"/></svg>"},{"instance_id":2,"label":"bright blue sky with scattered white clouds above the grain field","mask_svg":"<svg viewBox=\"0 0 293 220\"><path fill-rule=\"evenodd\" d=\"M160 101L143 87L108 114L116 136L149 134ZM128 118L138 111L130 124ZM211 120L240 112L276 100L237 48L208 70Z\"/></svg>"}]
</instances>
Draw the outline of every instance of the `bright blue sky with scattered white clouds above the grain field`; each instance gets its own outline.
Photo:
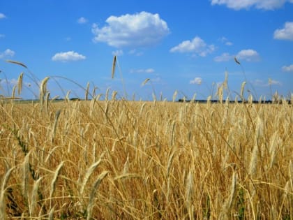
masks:
<instances>
[{"instance_id":1,"label":"bright blue sky with scattered white clouds above the grain field","mask_svg":"<svg viewBox=\"0 0 293 220\"><path fill-rule=\"evenodd\" d=\"M177 98L202 99L216 94L227 71L231 97L245 80L257 98L275 91L287 97L293 91L292 51L292 0L0 1L5 96L24 72L22 98L38 95L33 74L38 82L51 77L51 96L70 90L70 97L84 97L62 79L68 78L82 87L90 82L96 94L110 89L124 96L124 84L127 98L152 100L155 91L172 100L178 91ZM112 79L114 54L119 66Z\"/></svg>"}]
</instances>

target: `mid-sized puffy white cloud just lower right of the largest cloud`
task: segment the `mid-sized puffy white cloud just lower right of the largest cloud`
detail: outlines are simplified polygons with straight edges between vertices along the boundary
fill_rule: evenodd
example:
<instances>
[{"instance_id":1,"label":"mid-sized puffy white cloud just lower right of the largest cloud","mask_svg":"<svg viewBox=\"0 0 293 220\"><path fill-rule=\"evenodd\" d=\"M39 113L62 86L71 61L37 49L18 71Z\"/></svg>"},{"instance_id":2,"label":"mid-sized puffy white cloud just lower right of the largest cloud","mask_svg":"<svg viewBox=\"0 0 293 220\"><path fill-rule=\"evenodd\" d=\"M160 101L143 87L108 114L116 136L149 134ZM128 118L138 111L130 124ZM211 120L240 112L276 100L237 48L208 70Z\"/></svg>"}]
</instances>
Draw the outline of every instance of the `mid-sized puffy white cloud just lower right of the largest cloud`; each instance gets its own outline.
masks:
<instances>
[{"instance_id":1,"label":"mid-sized puffy white cloud just lower right of the largest cloud","mask_svg":"<svg viewBox=\"0 0 293 220\"><path fill-rule=\"evenodd\" d=\"M201 57L206 57L207 54L215 50L214 45L206 45L202 38L196 36L191 41L183 41L172 47L170 52L181 52L181 53L193 53L198 54Z\"/></svg>"}]
</instances>

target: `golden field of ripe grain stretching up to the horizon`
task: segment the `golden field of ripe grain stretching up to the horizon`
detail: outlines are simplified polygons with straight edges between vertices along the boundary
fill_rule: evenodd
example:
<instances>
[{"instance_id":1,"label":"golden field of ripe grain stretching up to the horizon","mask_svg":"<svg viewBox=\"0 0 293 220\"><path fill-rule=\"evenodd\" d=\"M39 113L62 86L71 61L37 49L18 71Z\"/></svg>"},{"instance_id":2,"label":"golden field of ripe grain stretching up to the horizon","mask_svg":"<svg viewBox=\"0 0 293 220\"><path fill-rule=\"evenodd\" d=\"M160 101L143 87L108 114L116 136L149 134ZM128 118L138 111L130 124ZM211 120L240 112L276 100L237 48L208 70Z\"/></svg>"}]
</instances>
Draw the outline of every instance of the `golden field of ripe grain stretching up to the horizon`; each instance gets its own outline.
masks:
<instances>
[{"instance_id":1,"label":"golden field of ripe grain stretching up to the horizon","mask_svg":"<svg viewBox=\"0 0 293 220\"><path fill-rule=\"evenodd\" d=\"M293 219L286 102L15 103L0 219Z\"/></svg>"}]
</instances>

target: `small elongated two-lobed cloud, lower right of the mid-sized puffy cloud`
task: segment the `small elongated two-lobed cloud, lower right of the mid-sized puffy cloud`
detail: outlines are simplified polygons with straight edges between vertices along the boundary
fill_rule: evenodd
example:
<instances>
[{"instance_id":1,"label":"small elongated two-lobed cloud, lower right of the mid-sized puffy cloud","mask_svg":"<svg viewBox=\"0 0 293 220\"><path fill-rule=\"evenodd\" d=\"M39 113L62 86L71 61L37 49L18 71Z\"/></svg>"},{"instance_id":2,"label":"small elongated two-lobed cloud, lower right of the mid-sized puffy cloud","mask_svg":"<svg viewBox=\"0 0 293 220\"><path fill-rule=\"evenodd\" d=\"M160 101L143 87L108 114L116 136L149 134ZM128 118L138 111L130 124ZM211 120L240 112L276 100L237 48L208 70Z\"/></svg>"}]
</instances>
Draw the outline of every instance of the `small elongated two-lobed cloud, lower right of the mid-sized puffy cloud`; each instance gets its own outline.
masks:
<instances>
[{"instance_id":1,"label":"small elongated two-lobed cloud, lower right of the mid-sized puffy cloud","mask_svg":"<svg viewBox=\"0 0 293 220\"><path fill-rule=\"evenodd\" d=\"M225 62L230 61L236 57L239 60L245 60L245 61L259 61L260 60L260 54L256 52L255 50L248 49L248 50L241 50L237 54L229 54L227 52L221 54L218 57L215 57L213 60L216 62Z\"/></svg>"}]
</instances>

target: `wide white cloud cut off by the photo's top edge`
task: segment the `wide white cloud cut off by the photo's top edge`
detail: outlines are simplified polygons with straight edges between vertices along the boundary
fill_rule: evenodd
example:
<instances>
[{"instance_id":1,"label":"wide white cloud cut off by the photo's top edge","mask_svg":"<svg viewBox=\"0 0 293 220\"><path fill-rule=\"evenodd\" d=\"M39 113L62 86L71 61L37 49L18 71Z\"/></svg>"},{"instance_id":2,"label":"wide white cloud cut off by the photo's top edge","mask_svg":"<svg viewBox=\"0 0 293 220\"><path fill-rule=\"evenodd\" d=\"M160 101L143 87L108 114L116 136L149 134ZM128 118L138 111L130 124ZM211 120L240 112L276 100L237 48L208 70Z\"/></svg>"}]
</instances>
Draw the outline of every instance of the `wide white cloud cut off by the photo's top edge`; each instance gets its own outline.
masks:
<instances>
[{"instance_id":1,"label":"wide white cloud cut off by the photo's top edge","mask_svg":"<svg viewBox=\"0 0 293 220\"><path fill-rule=\"evenodd\" d=\"M255 7L262 10L274 10L284 6L286 2L293 3L292 0L211 0L211 5L225 5L234 10L248 9Z\"/></svg>"}]
</instances>

